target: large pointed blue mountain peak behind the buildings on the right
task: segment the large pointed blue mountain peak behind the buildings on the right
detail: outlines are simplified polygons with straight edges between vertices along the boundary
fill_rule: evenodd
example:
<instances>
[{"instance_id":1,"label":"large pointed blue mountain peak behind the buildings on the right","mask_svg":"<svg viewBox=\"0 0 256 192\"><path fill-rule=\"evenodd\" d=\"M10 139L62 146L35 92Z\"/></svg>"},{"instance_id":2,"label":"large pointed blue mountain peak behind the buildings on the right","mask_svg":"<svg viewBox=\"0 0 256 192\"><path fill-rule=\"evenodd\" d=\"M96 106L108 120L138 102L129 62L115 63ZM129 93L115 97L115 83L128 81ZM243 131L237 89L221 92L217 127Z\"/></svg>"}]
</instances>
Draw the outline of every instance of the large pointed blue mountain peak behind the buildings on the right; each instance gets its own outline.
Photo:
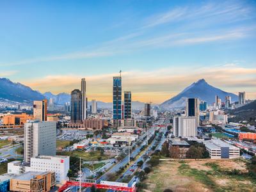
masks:
<instances>
[{"instance_id":1,"label":"large pointed blue mountain peak behind the buildings on the right","mask_svg":"<svg viewBox=\"0 0 256 192\"><path fill-rule=\"evenodd\" d=\"M230 96L232 102L238 100L237 95L234 93L224 92L219 88L211 86L204 79L200 79L199 81L185 88L175 97L172 97L172 99L163 102L160 107L164 109L184 108L186 106L186 99L194 97L199 98L200 100L205 100L208 104L212 104L215 102L215 95L218 95L221 101L225 101L226 96Z\"/></svg>"}]
</instances>

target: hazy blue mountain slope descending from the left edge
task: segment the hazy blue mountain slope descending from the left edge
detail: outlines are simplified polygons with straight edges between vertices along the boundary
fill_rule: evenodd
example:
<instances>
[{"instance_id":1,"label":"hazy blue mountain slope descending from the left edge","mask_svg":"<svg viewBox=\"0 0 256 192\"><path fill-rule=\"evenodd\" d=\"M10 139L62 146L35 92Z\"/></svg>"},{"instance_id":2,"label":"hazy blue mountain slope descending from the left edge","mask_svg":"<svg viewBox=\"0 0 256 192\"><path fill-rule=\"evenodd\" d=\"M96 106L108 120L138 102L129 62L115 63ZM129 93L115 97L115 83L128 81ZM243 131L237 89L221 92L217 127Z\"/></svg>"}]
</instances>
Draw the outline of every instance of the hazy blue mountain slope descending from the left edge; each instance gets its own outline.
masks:
<instances>
[{"instance_id":1,"label":"hazy blue mountain slope descending from the left edge","mask_svg":"<svg viewBox=\"0 0 256 192\"><path fill-rule=\"evenodd\" d=\"M32 102L42 100L44 95L20 83L13 83L10 79L0 78L0 99L15 102Z\"/></svg>"}]
</instances>

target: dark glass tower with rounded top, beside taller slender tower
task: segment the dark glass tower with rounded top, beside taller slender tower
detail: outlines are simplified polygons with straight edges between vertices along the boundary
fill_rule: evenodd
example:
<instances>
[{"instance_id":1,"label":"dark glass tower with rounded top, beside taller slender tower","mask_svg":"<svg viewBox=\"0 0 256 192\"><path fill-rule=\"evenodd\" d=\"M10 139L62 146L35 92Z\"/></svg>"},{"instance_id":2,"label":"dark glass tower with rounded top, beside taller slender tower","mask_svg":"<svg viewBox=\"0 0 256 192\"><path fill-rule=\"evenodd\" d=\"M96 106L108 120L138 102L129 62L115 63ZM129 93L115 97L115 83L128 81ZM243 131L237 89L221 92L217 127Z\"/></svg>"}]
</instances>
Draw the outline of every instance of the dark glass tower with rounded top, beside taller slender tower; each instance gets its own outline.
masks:
<instances>
[{"instance_id":1,"label":"dark glass tower with rounded top, beside taller slender tower","mask_svg":"<svg viewBox=\"0 0 256 192\"><path fill-rule=\"evenodd\" d=\"M71 122L73 124L81 124L82 118L82 93L80 90L71 92Z\"/></svg>"}]
</instances>

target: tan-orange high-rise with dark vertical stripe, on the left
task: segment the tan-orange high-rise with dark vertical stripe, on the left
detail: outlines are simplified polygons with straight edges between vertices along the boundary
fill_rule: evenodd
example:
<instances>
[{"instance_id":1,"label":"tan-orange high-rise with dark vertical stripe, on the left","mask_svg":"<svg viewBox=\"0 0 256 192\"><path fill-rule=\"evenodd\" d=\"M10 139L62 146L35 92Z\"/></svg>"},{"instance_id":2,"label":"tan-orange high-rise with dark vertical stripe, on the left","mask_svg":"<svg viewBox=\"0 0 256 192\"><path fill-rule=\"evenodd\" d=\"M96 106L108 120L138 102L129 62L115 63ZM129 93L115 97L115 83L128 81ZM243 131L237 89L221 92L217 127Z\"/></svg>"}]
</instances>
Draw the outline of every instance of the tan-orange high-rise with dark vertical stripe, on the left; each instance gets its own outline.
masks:
<instances>
[{"instance_id":1,"label":"tan-orange high-rise with dark vertical stripe, on the left","mask_svg":"<svg viewBox=\"0 0 256 192\"><path fill-rule=\"evenodd\" d=\"M42 122L47 120L47 99L34 100L33 115L35 119Z\"/></svg>"}]
</instances>

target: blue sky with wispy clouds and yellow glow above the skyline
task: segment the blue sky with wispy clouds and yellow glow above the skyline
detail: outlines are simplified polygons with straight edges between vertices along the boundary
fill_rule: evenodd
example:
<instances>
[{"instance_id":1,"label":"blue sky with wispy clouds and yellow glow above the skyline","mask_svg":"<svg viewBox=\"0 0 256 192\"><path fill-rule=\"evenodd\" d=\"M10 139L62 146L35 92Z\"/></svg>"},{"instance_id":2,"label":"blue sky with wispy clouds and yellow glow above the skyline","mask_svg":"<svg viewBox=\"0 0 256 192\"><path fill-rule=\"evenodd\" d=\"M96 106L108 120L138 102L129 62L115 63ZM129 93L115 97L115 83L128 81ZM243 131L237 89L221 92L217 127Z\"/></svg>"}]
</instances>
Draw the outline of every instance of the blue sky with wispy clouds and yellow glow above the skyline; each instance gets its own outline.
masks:
<instances>
[{"instance_id":1,"label":"blue sky with wispy clouds and yellow glow above the skyline","mask_svg":"<svg viewBox=\"0 0 256 192\"><path fill-rule=\"evenodd\" d=\"M161 103L204 78L256 99L256 1L0 1L0 77Z\"/></svg>"}]
</instances>

